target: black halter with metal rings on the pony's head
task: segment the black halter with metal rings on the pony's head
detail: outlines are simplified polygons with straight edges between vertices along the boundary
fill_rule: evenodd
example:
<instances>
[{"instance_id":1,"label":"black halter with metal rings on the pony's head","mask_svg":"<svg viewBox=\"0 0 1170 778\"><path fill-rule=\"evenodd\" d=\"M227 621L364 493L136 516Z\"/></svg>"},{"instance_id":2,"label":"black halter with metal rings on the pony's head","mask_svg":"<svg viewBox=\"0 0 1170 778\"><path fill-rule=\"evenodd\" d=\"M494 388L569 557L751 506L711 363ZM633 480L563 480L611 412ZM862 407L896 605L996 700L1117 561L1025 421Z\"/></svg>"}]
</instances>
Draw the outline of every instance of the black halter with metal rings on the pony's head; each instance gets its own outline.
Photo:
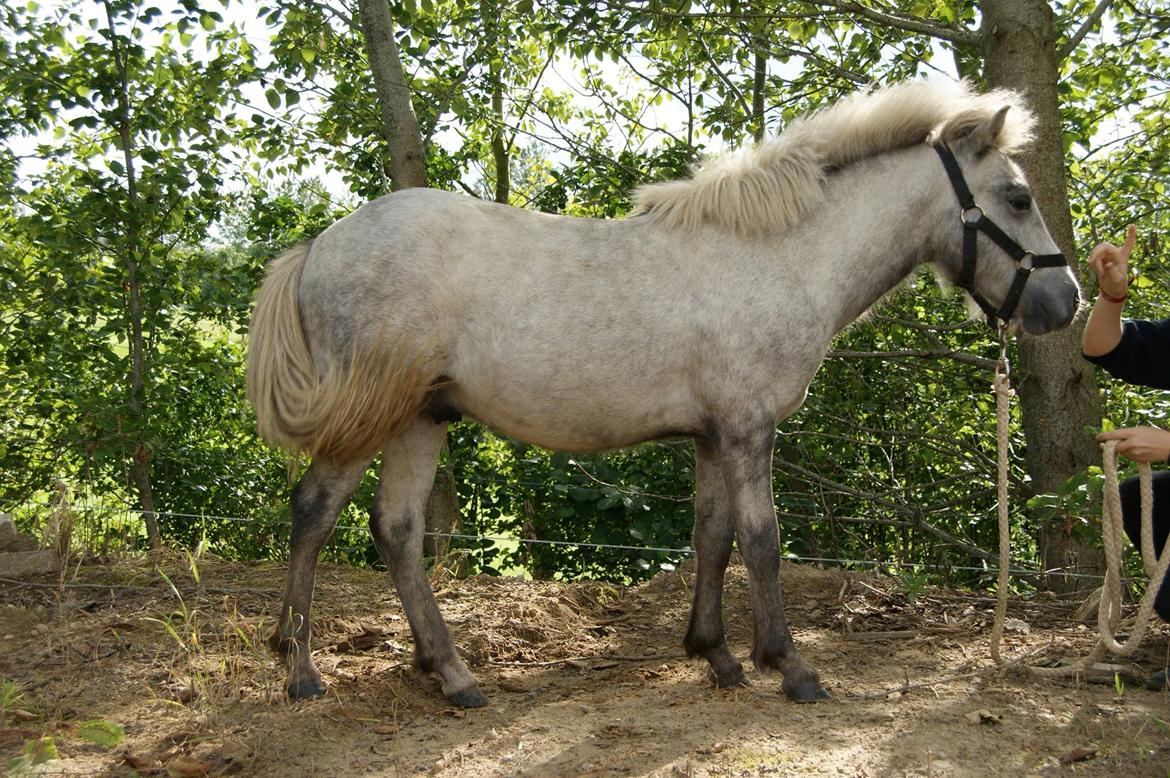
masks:
<instances>
[{"instance_id":1,"label":"black halter with metal rings on the pony's head","mask_svg":"<svg viewBox=\"0 0 1170 778\"><path fill-rule=\"evenodd\" d=\"M983 208L976 205L975 197L972 197L971 190L968 188L966 180L963 178L963 171L958 166L958 160L955 159L955 153L945 143L938 142L934 145L935 151L938 152L938 157L943 160L943 167L947 168L947 175L951 180L951 186L955 187L955 194L958 195L961 207L959 221L963 222L963 266L959 268L958 277L955 278L955 285L965 289L971 295L975 302L979 304L979 308L983 309L983 312L986 314L987 325L991 329L996 329L996 319L1000 319L1004 324L1011 321L1012 314L1016 312L1016 305L1024 294L1024 284L1027 283L1032 270L1035 268L1064 267L1068 264L1068 260L1061 253L1033 254L1020 248L1019 243L1009 237L1007 233L1002 230L983 212ZM976 241L979 236L979 230L1019 263L1019 267L1016 269L1016 277L1012 278L1012 285L1007 290L1007 296L1004 297L1004 303L999 307L999 310L996 310L996 307L987 302L987 298L980 295L975 288Z\"/></svg>"}]
</instances>

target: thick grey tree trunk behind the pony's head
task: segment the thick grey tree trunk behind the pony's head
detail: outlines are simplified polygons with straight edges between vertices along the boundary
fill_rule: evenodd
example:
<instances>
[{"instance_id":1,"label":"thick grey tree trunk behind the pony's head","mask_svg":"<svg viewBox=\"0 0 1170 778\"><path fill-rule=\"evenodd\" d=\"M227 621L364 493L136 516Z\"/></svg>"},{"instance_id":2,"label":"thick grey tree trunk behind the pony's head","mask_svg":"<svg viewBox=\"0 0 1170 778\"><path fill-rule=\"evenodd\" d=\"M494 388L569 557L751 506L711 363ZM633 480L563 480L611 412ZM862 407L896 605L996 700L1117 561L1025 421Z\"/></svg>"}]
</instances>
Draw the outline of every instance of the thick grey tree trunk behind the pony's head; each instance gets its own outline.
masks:
<instances>
[{"instance_id":1,"label":"thick grey tree trunk behind the pony's head","mask_svg":"<svg viewBox=\"0 0 1170 778\"><path fill-rule=\"evenodd\" d=\"M1061 142L1058 78L1060 62L1053 13L1046 0L983 0L984 77L989 87L1024 94L1035 111L1035 140L1020 164L1060 250L1076 269L1076 246L1068 208L1065 149ZM1100 460L1096 442L1085 433L1102 415L1095 373L1081 358L1085 317L1058 333L1020 336L1014 380L1020 398L1025 463L1034 494L1054 494L1073 473ZM1045 570L1099 573L1100 552L1074 537L1076 523L1055 519L1040 528ZM1055 576L1057 591L1078 588L1079 579Z\"/></svg>"}]
</instances>

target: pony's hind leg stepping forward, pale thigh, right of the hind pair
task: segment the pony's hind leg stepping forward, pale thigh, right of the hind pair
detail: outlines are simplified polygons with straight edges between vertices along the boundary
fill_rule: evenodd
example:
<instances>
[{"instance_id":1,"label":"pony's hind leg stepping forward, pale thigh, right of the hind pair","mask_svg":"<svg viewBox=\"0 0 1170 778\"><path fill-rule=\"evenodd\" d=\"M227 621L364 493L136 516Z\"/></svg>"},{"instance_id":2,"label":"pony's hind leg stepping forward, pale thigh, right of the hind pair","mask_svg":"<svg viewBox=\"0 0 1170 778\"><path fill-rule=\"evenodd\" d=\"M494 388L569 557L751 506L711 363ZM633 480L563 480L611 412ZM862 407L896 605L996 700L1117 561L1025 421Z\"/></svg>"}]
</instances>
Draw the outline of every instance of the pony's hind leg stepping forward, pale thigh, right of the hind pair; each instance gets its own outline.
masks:
<instances>
[{"instance_id":1,"label":"pony's hind leg stepping forward, pale thigh, right of the hind pair","mask_svg":"<svg viewBox=\"0 0 1170 778\"><path fill-rule=\"evenodd\" d=\"M479 708L488 700L455 650L422 566L424 509L446 431L420 418L385 446L370 531L411 624L415 667L438 673L453 704Z\"/></svg>"}]
</instances>

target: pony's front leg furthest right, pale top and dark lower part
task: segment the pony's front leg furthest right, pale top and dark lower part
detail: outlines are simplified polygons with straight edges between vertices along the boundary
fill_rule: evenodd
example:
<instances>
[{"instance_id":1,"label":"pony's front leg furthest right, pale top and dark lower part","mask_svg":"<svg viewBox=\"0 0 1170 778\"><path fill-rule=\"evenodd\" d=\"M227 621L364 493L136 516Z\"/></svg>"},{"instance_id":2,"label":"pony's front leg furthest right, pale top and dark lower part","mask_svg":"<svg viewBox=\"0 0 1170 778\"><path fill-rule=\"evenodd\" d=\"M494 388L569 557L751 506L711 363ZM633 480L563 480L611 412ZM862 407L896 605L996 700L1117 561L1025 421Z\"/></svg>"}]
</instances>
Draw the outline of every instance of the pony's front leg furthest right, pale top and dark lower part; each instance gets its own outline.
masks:
<instances>
[{"instance_id":1,"label":"pony's front leg furthest right, pale top and dark lower part","mask_svg":"<svg viewBox=\"0 0 1170 778\"><path fill-rule=\"evenodd\" d=\"M751 661L760 672L779 670L791 700L828 698L820 677L797 650L784 617L780 594L780 548L772 502L771 424L730 426L717 440L720 461L736 522L739 553L748 567L755 634Z\"/></svg>"}]
</instances>

